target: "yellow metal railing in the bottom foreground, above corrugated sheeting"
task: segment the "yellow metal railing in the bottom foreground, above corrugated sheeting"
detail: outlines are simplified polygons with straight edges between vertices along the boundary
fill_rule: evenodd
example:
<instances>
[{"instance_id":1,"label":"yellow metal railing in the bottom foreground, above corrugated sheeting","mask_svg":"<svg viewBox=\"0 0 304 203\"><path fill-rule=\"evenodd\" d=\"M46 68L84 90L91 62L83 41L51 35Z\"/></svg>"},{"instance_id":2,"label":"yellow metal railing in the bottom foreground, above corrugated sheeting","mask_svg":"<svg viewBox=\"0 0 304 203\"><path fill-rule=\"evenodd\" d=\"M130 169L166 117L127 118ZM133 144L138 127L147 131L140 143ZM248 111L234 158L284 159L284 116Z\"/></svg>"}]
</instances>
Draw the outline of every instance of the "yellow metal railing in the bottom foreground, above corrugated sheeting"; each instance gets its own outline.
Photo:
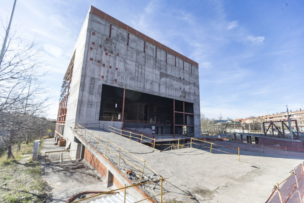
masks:
<instances>
[{"instance_id":1,"label":"yellow metal railing in the bottom foreground, above corrugated sheeting","mask_svg":"<svg viewBox=\"0 0 304 203\"><path fill-rule=\"evenodd\" d=\"M144 184L149 184L149 183L157 182L157 181L161 181L161 193L155 194L155 195L153 195L153 196L150 196L150 197L148 197L148 198L145 198L145 199L142 199L142 200L140 200L140 201L133 202L133 203L141 202L141 201L144 201L144 200L147 200L147 199L156 197L156 196L161 196L161 201L160 201L160 202L162 203L162 202L163 202L163 194L166 194L166 193L168 192L168 191L163 192L163 181L164 181L165 179L168 179L168 178L163 178L163 177L161 177L161 179L159 179L159 180L153 180L153 181L149 181L149 182L145 182L145 183L137 183L137 184L132 184L132 185L129 185L129 186L126 186L126 185L125 185L125 187L121 187L121 188L119 188L119 189L112 190L112 191L103 192L103 193L101 193L101 194L97 194L97 195L94 195L94 196L91 196L91 197L88 197L88 198L84 198L84 199L81 199L81 200L78 200L78 201L73 201L73 202L71 202L71 203L76 203L76 202L84 201L84 200L87 200L87 199L90 199L90 198L95 198L95 197L97 197L97 196L100 196L100 195L103 195L103 194L112 193L112 192L114 192L114 191L119 191L119 190L124 190L124 194L125 194L125 195L124 195L124 202L126 202L126 189L132 188L132 187L137 187L137 186L139 186L139 185L144 185Z\"/></svg>"}]
</instances>

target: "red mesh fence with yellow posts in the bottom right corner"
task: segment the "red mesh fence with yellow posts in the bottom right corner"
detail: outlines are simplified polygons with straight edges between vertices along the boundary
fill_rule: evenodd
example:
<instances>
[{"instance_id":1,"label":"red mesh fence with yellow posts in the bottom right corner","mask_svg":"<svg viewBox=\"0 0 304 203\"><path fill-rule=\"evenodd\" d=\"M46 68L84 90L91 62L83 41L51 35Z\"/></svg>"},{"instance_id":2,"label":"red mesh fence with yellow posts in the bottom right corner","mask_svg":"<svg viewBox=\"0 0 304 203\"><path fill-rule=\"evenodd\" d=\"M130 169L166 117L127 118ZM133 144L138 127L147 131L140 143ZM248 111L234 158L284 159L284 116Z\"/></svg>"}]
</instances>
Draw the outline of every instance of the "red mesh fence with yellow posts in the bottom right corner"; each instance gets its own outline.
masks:
<instances>
[{"instance_id":1,"label":"red mesh fence with yellow posts in the bottom right corner","mask_svg":"<svg viewBox=\"0 0 304 203\"><path fill-rule=\"evenodd\" d=\"M301 163L295 167L290 173L291 175L283 180L282 183L277 183L272 190L272 194L266 203L272 202L294 202L302 203L304 194L304 166Z\"/></svg>"}]
</instances>

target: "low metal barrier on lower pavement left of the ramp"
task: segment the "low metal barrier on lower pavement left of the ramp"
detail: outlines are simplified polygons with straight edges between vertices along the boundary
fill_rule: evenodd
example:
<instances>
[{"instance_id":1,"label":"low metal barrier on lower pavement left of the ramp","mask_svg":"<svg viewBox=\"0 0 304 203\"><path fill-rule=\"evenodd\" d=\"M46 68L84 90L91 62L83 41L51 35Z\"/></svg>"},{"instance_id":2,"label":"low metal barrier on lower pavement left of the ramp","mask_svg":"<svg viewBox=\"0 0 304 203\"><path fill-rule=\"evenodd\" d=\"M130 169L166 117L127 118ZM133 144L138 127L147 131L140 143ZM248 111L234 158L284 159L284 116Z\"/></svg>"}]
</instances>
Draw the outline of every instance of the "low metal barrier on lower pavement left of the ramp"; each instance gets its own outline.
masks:
<instances>
[{"instance_id":1,"label":"low metal barrier on lower pavement left of the ramp","mask_svg":"<svg viewBox=\"0 0 304 203\"><path fill-rule=\"evenodd\" d=\"M71 153L74 152L74 153ZM64 160L72 160L72 159L78 159L79 158L79 151L77 149L75 150L61 150L61 151L52 151L52 152L44 152L45 157L47 157L46 162L51 161L59 161L62 162ZM73 157L71 157L71 154Z\"/></svg>"}]
</instances>

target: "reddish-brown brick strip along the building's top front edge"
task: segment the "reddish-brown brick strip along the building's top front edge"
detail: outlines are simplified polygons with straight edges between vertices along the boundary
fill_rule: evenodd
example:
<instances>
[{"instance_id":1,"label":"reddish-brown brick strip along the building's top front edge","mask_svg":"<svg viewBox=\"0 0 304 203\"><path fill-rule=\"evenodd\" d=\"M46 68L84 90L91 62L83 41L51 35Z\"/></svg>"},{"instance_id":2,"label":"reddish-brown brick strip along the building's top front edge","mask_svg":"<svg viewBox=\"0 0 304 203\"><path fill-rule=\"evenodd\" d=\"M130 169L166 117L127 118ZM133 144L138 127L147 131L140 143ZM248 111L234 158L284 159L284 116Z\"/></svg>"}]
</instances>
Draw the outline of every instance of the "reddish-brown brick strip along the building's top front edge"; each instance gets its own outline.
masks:
<instances>
[{"instance_id":1,"label":"reddish-brown brick strip along the building's top front edge","mask_svg":"<svg viewBox=\"0 0 304 203\"><path fill-rule=\"evenodd\" d=\"M139 37L140 39L143 39L143 40L149 42L150 44L153 44L154 46L156 46L164 51L169 52L170 54L180 58L181 60L186 61L186 62L194 65L197 68L199 67L199 64L197 62L195 62L195 61L189 59L188 57L185 57L184 55L178 53L177 51L174 51L173 49L161 44L160 42L152 39L151 37L148 37L147 35L135 30L134 28L132 28L132 27L126 25L125 23L117 20L116 18L106 14L105 12L102 12L101 10L95 8L94 6L91 6L90 12L102 19L105 19L109 23L112 23L113 25L116 25L116 26L122 28L123 30L126 30L127 32L135 35L136 37Z\"/></svg>"}]
</instances>

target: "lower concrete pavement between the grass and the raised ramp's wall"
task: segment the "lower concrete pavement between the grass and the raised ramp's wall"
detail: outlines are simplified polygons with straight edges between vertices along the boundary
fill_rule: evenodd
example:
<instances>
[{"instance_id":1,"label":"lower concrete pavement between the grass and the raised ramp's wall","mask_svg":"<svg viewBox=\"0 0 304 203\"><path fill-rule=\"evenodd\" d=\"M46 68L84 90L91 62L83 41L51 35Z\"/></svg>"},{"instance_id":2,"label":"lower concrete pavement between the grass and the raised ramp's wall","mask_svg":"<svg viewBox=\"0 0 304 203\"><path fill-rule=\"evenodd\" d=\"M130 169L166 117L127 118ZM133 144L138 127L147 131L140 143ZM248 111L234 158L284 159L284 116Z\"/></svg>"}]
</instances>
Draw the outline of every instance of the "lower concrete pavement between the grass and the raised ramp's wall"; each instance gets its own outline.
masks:
<instances>
[{"instance_id":1,"label":"lower concrete pavement between the grass and the raised ramp's wall","mask_svg":"<svg viewBox=\"0 0 304 203\"><path fill-rule=\"evenodd\" d=\"M64 147L58 147L54 144L53 138L45 139L40 149L41 154L46 151L65 150ZM46 169L46 180L52 187L54 203L64 203L74 194L83 191L116 189L114 186L107 187L102 177L97 179L81 162L65 161L48 165L44 165L42 162L41 165L44 171Z\"/></svg>"}]
</instances>

